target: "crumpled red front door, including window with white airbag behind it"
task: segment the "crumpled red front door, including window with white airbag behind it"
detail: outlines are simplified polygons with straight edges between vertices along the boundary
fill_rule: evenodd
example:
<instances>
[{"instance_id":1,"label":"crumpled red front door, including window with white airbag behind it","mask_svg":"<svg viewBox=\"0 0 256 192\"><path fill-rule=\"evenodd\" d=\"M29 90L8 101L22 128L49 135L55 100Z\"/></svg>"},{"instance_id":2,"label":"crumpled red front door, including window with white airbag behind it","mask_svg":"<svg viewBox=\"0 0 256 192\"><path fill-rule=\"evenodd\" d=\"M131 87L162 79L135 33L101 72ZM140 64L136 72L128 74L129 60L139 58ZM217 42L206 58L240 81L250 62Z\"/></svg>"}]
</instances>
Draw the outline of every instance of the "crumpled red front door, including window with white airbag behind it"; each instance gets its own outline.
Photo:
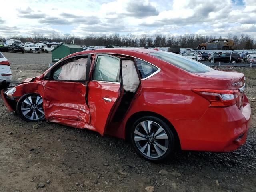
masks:
<instances>
[{"instance_id":1,"label":"crumpled red front door, including window with white airbag behind it","mask_svg":"<svg viewBox=\"0 0 256 192\"><path fill-rule=\"evenodd\" d=\"M86 69L90 67L88 55L64 60L50 72L44 81L46 118L72 127L90 122L86 104Z\"/></svg>"}]
</instances>

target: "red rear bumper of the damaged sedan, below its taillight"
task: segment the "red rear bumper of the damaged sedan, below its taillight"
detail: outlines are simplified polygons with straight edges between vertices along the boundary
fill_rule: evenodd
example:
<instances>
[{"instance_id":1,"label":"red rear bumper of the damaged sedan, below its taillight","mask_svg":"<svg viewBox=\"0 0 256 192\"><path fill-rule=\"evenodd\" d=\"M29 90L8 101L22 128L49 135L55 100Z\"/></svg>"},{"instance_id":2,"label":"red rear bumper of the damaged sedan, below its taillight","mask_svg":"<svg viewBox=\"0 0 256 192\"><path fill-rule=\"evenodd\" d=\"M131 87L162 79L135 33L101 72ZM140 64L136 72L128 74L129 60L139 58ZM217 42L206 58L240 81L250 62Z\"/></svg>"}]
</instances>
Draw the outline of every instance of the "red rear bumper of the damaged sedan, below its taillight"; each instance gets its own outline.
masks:
<instances>
[{"instance_id":1,"label":"red rear bumper of the damaged sedan, below its taillight","mask_svg":"<svg viewBox=\"0 0 256 192\"><path fill-rule=\"evenodd\" d=\"M240 111L236 105L208 108L196 121L175 122L182 150L230 152L246 142L250 127L251 108L246 96ZM177 124L177 125L178 125Z\"/></svg>"}]
</instances>

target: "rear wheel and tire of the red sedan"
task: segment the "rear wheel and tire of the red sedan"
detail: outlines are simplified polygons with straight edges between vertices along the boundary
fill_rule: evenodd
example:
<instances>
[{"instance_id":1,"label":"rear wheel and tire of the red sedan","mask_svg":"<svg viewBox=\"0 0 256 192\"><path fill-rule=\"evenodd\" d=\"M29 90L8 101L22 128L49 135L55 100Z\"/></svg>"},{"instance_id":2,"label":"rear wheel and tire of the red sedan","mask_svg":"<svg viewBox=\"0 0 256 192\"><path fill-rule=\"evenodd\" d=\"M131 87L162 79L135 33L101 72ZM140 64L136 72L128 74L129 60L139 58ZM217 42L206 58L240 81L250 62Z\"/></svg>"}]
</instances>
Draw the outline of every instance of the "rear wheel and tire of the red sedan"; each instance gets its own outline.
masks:
<instances>
[{"instance_id":1,"label":"rear wheel and tire of the red sedan","mask_svg":"<svg viewBox=\"0 0 256 192\"><path fill-rule=\"evenodd\" d=\"M175 151L175 138L171 128L154 116L138 118L130 130L130 139L135 150L152 162L166 161Z\"/></svg>"}]
</instances>

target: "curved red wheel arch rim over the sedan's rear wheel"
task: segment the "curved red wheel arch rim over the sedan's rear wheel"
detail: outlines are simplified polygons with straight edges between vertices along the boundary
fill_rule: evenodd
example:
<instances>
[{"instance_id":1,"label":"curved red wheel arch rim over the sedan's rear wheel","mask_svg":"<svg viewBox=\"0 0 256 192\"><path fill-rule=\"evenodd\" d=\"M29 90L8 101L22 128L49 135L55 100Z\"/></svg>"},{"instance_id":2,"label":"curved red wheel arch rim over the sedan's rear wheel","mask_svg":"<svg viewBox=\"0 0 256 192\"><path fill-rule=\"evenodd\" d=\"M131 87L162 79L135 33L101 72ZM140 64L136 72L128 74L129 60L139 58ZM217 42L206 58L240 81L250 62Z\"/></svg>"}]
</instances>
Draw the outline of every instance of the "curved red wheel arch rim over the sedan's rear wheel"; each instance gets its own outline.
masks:
<instances>
[{"instance_id":1,"label":"curved red wheel arch rim over the sedan's rear wheel","mask_svg":"<svg viewBox=\"0 0 256 192\"><path fill-rule=\"evenodd\" d=\"M130 126L132 126L132 123L140 118L140 117L143 117L143 116L154 116L154 117L157 117L157 118L160 118L161 120L163 120L168 126L169 128L172 130L173 134L174 134L174 138L175 138L175 145L178 149L180 149L180 138L178 136L178 132L176 131L176 129L174 128L174 126L172 125L172 123L166 119L164 116L158 114L158 113L155 113L155 112L151 112L151 111L139 111L139 112L136 112L134 114L132 114L128 120L126 121L126 124L125 124L125 140L128 140L129 139L129 134L130 134Z\"/></svg>"}]
</instances>

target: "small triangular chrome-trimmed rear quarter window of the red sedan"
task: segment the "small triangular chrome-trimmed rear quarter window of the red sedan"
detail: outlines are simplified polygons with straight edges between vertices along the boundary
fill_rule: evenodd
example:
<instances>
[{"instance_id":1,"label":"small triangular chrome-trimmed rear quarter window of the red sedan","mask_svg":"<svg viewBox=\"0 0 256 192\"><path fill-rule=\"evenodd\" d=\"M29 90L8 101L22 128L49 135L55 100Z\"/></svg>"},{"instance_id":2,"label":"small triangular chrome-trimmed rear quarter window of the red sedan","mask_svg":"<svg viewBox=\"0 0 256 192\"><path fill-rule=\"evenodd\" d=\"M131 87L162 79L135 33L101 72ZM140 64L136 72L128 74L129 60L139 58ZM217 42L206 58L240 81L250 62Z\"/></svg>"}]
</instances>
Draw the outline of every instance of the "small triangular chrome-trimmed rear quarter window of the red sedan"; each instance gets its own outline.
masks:
<instances>
[{"instance_id":1,"label":"small triangular chrome-trimmed rear quarter window of the red sedan","mask_svg":"<svg viewBox=\"0 0 256 192\"><path fill-rule=\"evenodd\" d=\"M150 76L151 74L153 74L154 72L156 72L158 70L157 67L153 66L152 64L150 64L146 61L142 61L140 59L135 59L135 62L138 67L138 70L140 72L141 79L144 79L144 78Z\"/></svg>"}]
</instances>

